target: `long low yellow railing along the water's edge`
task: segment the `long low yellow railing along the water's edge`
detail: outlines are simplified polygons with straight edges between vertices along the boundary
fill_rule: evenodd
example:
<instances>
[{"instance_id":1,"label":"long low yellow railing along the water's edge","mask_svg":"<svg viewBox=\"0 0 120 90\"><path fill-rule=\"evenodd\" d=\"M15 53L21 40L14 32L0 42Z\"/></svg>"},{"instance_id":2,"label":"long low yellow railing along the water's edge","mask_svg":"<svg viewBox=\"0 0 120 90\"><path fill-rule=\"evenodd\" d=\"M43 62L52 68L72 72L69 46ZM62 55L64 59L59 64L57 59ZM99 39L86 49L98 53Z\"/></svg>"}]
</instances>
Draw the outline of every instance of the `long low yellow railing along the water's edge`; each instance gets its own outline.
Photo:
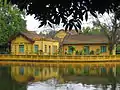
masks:
<instances>
[{"instance_id":1,"label":"long low yellow railing along the water's edge","mask_svg":"<svg viewBox=\"0 0 120 90\"><path fill-rule=\"evenodd\" d=\"M120 61L120 55L79 55L79 56L58 56L58 55L0 55L0 60L15 61Z\"/></svg>"}]
</instances>

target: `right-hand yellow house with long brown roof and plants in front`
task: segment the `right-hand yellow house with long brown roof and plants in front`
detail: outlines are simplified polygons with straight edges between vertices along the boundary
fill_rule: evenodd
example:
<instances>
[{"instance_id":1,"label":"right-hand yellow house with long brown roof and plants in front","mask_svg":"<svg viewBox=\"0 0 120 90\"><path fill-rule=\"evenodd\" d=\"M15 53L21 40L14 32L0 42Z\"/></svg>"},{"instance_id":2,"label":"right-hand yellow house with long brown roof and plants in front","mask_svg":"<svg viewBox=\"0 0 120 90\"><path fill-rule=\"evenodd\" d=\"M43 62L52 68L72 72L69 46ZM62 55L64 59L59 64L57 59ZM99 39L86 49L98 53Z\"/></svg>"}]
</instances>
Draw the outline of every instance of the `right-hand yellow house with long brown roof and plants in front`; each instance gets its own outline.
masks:
<instances>
[{"instance_id":1,"label":"right-hand yellow house with long brown roof and plants in front","mask_svg":"<svg viewBox=\"0 0 120 90\"><path fill-rule=\"evenodd\" d=\"M62 42L63 54L67 55L109 55L108 47L108 39L104 35L66 35Z\"/></svg>"}]
</instances>

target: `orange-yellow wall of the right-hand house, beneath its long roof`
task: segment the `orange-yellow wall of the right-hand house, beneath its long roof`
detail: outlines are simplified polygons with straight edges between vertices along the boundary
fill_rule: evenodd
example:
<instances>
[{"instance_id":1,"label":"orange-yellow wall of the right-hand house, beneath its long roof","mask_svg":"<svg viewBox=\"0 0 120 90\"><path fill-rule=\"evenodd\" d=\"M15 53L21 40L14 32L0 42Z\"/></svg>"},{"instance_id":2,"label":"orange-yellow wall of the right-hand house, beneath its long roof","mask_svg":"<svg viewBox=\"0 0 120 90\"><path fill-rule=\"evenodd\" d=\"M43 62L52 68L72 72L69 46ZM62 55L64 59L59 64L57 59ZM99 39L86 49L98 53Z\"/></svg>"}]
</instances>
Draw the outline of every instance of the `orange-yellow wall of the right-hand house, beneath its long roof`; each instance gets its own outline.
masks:
<instances>
[{"instance_id":1,"label":"orange-yellow wall of the right-hand house, beneath its long roof","mask_svg":"<svg viewBox=\"0 0 120 90\"><path fill-rule=\"evenodd\" d=\"M68 53L68 46L74 46L75 47L75 51L82 51L84 49L84 46L89 46L89 51L93 50L94 51L94 55L96 55L96 49L100 50L101 46L106 46L107 51L104 53L100 53L99 55L109 55L109 50L108 50L108 45L106 44L93 44L93 45L63 45L63 54L65 54L65 52Z\"/></svg>"}]
</instances>

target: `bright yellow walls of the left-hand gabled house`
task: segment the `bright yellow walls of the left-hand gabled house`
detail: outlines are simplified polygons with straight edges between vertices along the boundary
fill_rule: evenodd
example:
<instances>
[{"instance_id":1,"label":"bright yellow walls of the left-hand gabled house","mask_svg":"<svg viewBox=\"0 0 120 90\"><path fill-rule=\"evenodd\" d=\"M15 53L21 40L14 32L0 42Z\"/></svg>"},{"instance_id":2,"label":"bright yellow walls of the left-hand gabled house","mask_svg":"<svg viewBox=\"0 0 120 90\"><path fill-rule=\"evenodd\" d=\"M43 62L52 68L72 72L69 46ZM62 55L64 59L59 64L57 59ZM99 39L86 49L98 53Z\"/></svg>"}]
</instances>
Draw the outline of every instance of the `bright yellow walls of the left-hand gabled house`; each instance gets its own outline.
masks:
<instances>
[{"instance_id":1,"label":"bright yellow walls of the left-hand gabled house","mask_svg":"<svg viewBox=\"0 0 120 90\"><path fill-rule=\"evenodd\" d=\"M19 52L19 45L24 45L24 53ZM38 50L42 50L43 54L54 54L57 53L59 48L59 42L52 40L36 40L34 43L31 43L29 40L22 36L18 36L11 42L11 53L15 55L27 55L27 54L35 54L34 45L38 45ZM45 45L47 45L47 52L45 52ZM53 50L53 47L56 46L57 50ZM51 47L49 49L49 47ZM38 51L39 53L39 51Z\"/></svg>"}]
</instances>

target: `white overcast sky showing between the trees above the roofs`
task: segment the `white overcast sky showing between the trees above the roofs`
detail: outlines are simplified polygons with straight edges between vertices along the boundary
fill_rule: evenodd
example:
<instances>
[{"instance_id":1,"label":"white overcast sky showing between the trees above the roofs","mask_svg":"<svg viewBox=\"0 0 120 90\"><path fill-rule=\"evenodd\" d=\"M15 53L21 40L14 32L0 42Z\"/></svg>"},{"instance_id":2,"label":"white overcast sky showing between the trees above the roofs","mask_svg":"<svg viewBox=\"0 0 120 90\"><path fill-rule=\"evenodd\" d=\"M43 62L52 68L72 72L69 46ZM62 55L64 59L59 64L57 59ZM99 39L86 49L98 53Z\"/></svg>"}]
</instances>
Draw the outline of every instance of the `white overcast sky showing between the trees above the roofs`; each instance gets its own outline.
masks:
<instances>
[{"instance_id":1,"label":"white overcast sky showing between the trees above the roofs","mask_svg":"<svg viewBox=\"0 0 120 90\"><path fill-rule=\"evenodd\" d=\"M100 17L100 20L103 22L105 18L103 18L104 16L108 17L107 13L105 13L102 17ZM25 20L27 21L27 30L29 31L36 31L37 33L39 32L45 32L47 30L50 30L52 28L50 27L47 27L47 26L43 26L41 28L38 28L40 23L38 20L35 20L34 19L34 15L30 16L26 16ZM88 21L86 22L85 20L82 22L82 27L87 27L87 26L90 26L92 27L92 21L95 20L95 18L91 15L89 15L88 17ZM60 29L64 29L64 27L62 27L62 24L60 24L59 26L55 27L55 30L60 30Z\"/></svg>"}]
</instances>

